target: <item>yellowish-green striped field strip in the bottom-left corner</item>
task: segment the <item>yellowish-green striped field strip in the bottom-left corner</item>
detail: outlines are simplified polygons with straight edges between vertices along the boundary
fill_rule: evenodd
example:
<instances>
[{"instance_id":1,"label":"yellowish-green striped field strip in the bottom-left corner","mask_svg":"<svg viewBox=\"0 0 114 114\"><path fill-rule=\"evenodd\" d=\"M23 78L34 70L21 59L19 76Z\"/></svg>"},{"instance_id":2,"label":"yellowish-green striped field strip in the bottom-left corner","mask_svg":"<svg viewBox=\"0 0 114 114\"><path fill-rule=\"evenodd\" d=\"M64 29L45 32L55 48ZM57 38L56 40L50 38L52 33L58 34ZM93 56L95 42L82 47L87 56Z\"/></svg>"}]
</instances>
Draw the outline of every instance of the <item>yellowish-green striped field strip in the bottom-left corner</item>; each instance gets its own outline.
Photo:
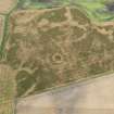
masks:
<instances>
[{"instance_id":1,"label":"yellowish-green striped field strip in the bottom-left corner","mask_svg":"<svg viewBox=\"0 0 114 114\"><path fill-rule=\"evenodd\" d=\"M0 64L0 114L13 114L15 97L14 72Z\"/></svg>"}]
</instances>

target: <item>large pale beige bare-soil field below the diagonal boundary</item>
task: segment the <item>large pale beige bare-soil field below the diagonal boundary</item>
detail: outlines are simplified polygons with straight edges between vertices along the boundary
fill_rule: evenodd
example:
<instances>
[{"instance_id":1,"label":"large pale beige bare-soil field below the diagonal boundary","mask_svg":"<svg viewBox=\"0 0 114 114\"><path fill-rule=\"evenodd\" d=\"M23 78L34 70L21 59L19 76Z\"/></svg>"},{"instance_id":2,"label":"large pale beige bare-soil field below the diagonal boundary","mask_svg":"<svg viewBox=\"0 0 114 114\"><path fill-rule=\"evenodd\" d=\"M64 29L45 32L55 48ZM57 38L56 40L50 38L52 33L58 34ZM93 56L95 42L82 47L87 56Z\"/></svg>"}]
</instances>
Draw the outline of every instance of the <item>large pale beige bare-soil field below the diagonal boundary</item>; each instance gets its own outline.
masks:
<instances>
[{"instance_id":1,"label":"large pale beige bare-soil field below the diagonal boundary","mask_svg":"<svg viewBox=\"0 0 114 114\"><path fill-rule=\"evenodd\" d=\"M114 74L18 100L17 114L113 114Z\"/></svg>"}]
</instances>

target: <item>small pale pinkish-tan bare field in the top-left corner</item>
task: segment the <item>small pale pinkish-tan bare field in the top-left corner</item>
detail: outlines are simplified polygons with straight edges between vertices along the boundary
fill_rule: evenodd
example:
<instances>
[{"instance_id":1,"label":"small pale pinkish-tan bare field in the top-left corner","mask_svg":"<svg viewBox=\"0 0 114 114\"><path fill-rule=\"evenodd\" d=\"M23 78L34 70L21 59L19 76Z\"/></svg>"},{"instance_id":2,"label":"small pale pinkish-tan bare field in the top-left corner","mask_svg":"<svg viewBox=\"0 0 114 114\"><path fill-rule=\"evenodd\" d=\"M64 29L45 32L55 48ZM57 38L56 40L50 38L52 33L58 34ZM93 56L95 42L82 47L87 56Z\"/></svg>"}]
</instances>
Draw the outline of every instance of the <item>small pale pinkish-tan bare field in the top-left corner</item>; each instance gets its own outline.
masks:
<instances>
[{"instance_id":1,"label":"small pale pinkish-tan bare field in the top-left corner","mask_svg":"<svg viewBox=\"0 0 114 114\"><path fill-rule=\"evenodd\" d=\"M16 0L0 0L0 13L8 13L14 8Z\"/></svg>"}]
</instances>

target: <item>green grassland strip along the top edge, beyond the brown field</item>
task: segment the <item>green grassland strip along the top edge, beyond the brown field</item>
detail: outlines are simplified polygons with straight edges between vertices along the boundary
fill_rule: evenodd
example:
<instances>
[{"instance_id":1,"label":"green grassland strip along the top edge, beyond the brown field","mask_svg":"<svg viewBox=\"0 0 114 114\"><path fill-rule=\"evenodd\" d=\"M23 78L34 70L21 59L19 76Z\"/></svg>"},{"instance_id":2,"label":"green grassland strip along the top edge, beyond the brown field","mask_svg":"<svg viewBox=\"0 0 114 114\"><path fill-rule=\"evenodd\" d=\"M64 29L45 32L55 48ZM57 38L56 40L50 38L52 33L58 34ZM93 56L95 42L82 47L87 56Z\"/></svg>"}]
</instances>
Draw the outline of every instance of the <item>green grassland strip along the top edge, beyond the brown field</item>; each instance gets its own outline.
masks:
<instances>
[{"instance_id":1,"label":"green grassland strip along the top edge, beyond the brown field","mask_svg":"<svg viewBox=\"0 0 114 114\"><path fill-rule=\"evenodd\" d=\"M43 0L42 0L43 1ZM113 0L52 0L53 2L39 2L38 0L20 0L21 9L51 9L60 5L78 7L88 14L92 21L106 22L114 20L114 13L107 11L106 4Z\"/></svg>"}]
</instances>

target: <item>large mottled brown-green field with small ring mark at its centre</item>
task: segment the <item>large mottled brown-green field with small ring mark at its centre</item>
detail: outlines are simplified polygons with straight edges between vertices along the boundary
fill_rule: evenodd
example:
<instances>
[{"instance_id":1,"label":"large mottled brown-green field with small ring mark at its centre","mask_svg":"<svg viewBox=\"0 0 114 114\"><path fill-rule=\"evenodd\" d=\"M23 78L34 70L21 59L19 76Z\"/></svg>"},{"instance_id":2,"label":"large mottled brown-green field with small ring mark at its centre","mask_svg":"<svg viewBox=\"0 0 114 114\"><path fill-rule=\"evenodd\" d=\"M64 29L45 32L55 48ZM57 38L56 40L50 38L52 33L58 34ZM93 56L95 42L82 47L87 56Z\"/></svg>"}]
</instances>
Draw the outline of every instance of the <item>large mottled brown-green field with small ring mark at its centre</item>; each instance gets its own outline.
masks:
<instances>
[{"instance_id":1,"label":"large mottled brown-green field with small ring mark at its centre","mask_svg":"<svg viewBox=\"0 0 114 114\"><path fill-rule=\"evenodd\" d=\"M114 71L114 26L97 26L73 7L13 12L5 64L17 97Z\"/></svg>"}]
</instances>

